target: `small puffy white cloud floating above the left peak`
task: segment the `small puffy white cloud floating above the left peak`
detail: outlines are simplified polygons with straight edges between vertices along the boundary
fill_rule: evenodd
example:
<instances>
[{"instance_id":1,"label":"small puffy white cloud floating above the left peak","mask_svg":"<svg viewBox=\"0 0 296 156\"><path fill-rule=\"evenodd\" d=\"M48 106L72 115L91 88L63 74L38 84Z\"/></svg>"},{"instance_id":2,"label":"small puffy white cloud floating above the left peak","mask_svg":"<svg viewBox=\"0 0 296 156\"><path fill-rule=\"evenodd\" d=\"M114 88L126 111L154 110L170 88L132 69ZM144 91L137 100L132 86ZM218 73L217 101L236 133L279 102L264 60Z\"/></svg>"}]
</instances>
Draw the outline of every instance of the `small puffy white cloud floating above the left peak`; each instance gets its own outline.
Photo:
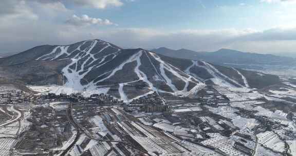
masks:
<instances>
[{"instance_id":1,"label":"small puffy white cloud floating above the left peak","mask_svg":"<svg viewBox=\"0 0 296 156\"><path fill-rule=\"evenodd\" d=\"M75 26L115 25L114 23L110 22L108 19L93 18L93 17L89 17L88 15L82 15L82 16L72 15L72 17L69 18L66 23L70 25L75 25Z\"/></svg>"}]
</instances>

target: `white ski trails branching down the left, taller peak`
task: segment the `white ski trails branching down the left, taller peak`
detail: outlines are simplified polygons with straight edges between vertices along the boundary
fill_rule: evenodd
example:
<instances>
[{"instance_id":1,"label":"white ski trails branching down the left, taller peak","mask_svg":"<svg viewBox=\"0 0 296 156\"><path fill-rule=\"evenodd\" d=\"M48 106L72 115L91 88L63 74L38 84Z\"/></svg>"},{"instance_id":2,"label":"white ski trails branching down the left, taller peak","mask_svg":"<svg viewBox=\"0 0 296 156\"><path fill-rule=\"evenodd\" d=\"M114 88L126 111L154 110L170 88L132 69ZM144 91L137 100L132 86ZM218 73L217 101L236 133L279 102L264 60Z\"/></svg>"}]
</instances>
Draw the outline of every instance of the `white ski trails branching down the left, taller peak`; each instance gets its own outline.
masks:
<instances>
[{"instance_id":1,"label":"white ski trails branching down the left, taller peak","mask_svg":"<svg viewBox=\"0 0 296 156\"><path fill-rule=\"evenodd\" d=\"M85 46L88 43L89 45L87 45L87 47L84 50L82 50L81 47ZM97 44L100 44L104 47L102 47L100 50L98 50L94 54L90 53L97 46ZM88 74L91 70L93 70L93 68L98 68L106 64L107 62L109 62L109 61L106 61L107 56L112 55L113 57L111 60L113 60L117 56L117 54L121 51L121 49L116 48L111 44L100 41L100 40L88 40L88 41L81 42L76 49L73 49L70 52L68 52L69 47L70 46L56 46L50 53L44 54L40 56L38 59L36 59L36 60L42 60L42 61L45 61L45 60L53 61L53 60L57 60L60 56L66 54L65 59L61 59L61 60L70 59L71 63L62 69L63 75L66 77L67 82L64 84L63 87L61 87L60 90L62 91L66 90L68 91L68 93L80 92L82 90L85 90L86 88L95 90L97 88L96 85L93 82L89 83L86 79L84 79L84 76ZM117 49L117 52L105 55L98 59L95 58L95 54L103 52L109 47ZM58 50L60 51L58 52ZM74 51L78 51L78 52L75 55L70 56L70 54L72 54L72 52ZM98 62L99 59L101 59L99 63L89 66L91 64L94 64L96 61ZM75 69L71 69L70 66L74 66ZM81 81L87 82L87 85L82 85Z\"/></svg>"}]
</instances>

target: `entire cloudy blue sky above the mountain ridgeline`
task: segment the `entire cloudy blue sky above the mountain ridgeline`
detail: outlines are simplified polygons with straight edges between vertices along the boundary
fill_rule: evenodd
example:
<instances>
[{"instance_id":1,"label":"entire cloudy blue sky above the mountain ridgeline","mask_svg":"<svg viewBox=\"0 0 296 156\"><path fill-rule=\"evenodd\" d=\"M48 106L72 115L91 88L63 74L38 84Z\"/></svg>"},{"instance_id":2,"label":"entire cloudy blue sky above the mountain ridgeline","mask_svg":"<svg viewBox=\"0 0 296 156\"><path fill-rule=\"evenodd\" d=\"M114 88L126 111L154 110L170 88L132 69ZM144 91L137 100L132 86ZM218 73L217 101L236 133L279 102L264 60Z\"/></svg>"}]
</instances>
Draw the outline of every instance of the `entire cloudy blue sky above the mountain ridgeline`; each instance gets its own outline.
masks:
<instances>
[{"instance_id":1,"label":"entire cloudy blue sky above the mountain ridgeline","mask_svg":"<svg viewBox=\"0 0 296 156\"><path fill-rule=\"evenodd\" d=\"M99 38L123 48L296 53L294 0L1 0L0 52Z\"/></svg>"}]
</instances>

